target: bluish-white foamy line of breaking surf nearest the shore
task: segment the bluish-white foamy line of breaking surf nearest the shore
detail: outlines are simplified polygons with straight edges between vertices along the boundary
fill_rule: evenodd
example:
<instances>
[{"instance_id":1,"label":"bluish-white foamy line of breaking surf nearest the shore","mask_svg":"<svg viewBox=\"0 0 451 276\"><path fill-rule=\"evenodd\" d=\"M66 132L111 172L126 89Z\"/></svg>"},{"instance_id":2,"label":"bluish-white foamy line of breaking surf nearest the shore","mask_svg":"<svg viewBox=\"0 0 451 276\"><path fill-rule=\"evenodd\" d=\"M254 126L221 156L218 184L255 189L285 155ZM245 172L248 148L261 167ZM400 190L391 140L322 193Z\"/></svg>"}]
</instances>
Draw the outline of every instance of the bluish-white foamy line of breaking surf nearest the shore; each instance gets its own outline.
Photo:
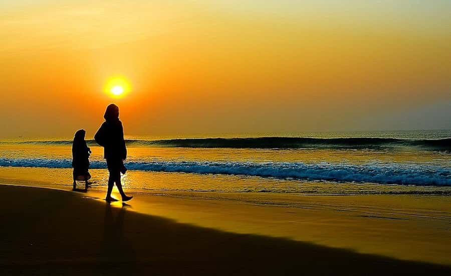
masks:
<instances>
[{"instance_id":1,"label":"bluish-white foamy line of breaking surf nearest the shore","mask_svg":"<svg viewBox=\"0 0 451 276\"><path fill-rule=\"evenodd\" d=\"M69 159L7 159L0 158L2 167L42 167L71 168ZM302 162L213 162L213 161L130 161L126 163L130 170L149 172L178 172L195 174L221 174L256 176L263 178L370 182L378 184L401 185L439 185L451 186L451 168L436 165L418 165L410 163L367 164L347 163L302 163ZM92 161L92 169L105 169L103 161Z\"/></svg>"}]
</instances>

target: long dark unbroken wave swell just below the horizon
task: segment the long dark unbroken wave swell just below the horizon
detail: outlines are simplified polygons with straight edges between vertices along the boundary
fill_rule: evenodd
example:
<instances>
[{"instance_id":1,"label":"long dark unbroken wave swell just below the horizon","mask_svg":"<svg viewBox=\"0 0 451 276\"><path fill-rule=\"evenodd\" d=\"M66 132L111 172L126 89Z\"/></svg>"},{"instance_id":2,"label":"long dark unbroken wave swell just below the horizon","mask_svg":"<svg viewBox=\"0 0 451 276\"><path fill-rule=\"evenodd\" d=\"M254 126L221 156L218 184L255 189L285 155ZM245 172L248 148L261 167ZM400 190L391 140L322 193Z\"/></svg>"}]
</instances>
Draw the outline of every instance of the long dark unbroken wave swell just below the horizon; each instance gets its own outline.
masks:
<instances>
[{"instance_id":1,"label":"long dark unbroken wave swell just below the horizon","mask_svg":"<svg viewBox=\"0 0 451 276\"><path fill-rule=\"evenodd\" d=\"M72 141L19 141L2 144L71 145ZM88 145L97 145L88 140ZM201 138L169 140L126 140L128 146L173 148L235 148L235 149L400 149L415 148L429 151L451 151L451 138L410 140L379 137L309 138L309 137L250 137Z\"/></svg>"}]
</instances>

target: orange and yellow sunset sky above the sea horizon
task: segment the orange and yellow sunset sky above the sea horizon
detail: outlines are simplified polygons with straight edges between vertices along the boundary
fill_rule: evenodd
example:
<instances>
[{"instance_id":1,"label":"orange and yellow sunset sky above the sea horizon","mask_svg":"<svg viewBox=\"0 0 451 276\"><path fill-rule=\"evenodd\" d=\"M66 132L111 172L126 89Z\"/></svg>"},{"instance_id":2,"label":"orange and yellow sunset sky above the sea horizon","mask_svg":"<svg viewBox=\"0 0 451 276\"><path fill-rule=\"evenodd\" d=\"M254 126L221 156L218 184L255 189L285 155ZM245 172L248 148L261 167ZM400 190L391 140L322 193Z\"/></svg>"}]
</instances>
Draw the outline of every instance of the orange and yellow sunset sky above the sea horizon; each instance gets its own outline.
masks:
<instances>
[{"instance_id":1,"label":"orange and yellow sunset sky above the sea horizon","mask_svg":"<svg viewBox=\"0 0 451 276\"><path fill-rule=\"evenodd\" d=\"M451 128L445 0L3 0L0 44L0 137Z\"/></svg>"}]
</instances>

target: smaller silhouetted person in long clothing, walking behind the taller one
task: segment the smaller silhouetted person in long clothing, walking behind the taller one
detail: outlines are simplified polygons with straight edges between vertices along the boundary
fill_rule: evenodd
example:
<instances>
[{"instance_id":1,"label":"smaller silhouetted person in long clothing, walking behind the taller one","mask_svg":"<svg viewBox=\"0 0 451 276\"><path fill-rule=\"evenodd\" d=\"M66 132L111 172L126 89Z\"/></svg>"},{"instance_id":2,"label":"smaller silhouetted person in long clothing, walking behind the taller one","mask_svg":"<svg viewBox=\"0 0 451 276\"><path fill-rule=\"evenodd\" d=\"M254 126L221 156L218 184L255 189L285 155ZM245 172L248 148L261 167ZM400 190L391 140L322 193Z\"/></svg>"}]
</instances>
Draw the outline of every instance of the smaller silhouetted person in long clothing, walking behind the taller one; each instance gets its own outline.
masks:
<instances>
[{"instance_id":1,"label":"smaller silhouetted person in long clothing, walking behind the taller one","mask_svg":"<svg viewBox=\"0 0 451 276\"><path fill-rule=\"evenodd\" d=\"M88 180L91 178L89 173L89 156L91 149L88 148L85 141L86 131L79 129L75 132L74 142L72 143L72 168L74 168L74 190L77 188L76 181L85 181L85 189L88 189Z\"/></svg>"}]
</instances>

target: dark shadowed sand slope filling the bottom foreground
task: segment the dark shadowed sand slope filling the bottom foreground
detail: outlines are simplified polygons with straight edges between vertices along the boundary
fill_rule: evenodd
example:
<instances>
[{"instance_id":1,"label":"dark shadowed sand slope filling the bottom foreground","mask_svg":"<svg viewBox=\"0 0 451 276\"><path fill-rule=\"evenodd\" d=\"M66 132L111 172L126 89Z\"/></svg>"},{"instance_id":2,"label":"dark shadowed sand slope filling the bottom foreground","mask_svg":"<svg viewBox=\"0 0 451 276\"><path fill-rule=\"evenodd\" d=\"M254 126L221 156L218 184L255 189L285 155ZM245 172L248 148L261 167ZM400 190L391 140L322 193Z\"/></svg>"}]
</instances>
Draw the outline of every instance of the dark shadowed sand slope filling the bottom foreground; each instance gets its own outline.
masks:
<instances>
[{"instance_id":1,"label":"dark shadowed sand slope filling the bottom foreground","mask_svg":"<svg viewBox=\"0 0 451 276\"><path fill-rule=\"evenodd\" d=\"M171 216L164 214L141 214L132 211L144 204L138 199L141 195L131 201L131 206L121 206L108 205L89 193L4 185L0 185L0 193L0 269L6 275L451 273L451 266L442 264L221 231L169 219ZM163 205L165 197L154 197L154 206L158 206L156 198ZM174 204L175 199L169 201ZM171 209L186 208L192 214L187 207L196 208L198 213L209 212L202 201ZM247 215L252 218L254 214Z\"/></svg>"}]
</instances>

